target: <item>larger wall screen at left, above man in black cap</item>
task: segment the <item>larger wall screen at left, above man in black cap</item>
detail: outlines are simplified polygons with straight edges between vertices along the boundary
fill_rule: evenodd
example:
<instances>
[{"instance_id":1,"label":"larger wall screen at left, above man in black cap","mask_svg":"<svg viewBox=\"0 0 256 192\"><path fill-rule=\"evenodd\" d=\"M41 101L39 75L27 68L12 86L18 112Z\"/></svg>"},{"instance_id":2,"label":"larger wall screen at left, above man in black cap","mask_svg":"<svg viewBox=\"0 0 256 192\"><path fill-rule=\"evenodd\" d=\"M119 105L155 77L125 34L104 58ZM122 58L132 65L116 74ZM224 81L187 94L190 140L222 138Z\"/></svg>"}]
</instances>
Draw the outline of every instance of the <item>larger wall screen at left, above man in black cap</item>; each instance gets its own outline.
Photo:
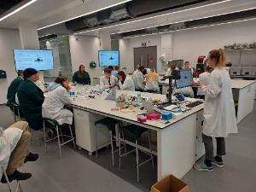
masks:
<instances>
[{"instance_id":1,"label":"larger wall screen at left, above man in black cap","mask_svg":"<svg viewBox=\"0 0 256 192\"><path fill-rule=\"evenodd\" d=\"M14 55L16 71L26 68L38 71L54 69L52 50L14 49Z\"/></svg>"}]
</instances>

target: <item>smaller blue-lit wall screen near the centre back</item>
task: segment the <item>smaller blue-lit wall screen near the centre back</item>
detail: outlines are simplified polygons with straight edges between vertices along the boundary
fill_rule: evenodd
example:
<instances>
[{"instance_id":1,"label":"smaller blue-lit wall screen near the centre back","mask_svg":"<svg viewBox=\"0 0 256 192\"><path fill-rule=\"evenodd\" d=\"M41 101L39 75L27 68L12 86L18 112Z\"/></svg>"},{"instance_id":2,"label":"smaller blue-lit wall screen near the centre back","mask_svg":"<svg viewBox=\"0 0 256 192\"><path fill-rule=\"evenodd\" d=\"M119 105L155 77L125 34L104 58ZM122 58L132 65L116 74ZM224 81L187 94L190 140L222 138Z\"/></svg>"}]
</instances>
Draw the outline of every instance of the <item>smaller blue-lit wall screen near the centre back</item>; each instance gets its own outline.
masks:
<instances>
[{"instance_id":1,"label":"smaller blue-lit wall screen near the centre back","mask_svg":"<svg viewBox=\"0 0 256 192\"><path fill-rule=\"evenodd\" d=\"M119 51L99 50L99 66L119 66Z\"/></svg>"}]
</instances>

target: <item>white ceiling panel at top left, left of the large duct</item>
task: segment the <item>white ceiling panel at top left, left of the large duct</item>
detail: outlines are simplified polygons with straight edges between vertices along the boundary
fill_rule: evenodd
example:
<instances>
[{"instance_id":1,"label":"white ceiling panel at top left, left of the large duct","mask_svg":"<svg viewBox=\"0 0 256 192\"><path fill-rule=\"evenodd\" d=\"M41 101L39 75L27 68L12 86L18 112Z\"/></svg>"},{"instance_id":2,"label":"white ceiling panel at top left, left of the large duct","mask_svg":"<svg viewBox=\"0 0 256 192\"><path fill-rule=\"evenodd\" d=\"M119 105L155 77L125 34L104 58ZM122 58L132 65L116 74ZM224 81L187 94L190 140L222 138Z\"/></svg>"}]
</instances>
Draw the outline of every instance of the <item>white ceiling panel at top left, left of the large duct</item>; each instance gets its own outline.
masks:
<instances>
[{"instance_id":1,"label":"white ceiling panel at top left, left of the large duct","mask_svg":"<svg viewBox=\"0 0 256 192\"><path fill-rule=\"evenodd\" d=\"M19 28L26 23L41 28L122 2L125 0L38 0L1 21L0 27Z\"/></svg>"}]
</instances>

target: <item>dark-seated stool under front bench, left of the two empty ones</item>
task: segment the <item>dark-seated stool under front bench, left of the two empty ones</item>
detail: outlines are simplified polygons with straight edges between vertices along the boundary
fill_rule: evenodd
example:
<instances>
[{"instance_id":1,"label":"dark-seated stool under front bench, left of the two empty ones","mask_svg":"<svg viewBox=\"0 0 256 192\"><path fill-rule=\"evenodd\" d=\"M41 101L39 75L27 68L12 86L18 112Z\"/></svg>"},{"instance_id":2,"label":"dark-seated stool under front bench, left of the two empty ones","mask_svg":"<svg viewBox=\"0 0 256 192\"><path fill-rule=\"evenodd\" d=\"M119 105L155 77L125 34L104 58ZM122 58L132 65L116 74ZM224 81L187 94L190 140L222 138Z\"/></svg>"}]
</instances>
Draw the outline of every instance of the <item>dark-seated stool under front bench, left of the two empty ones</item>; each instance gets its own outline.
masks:
<instances>
[{"instance_id":1,"label":"dark-seated stool under front bench, left of the two empty ones","mask_svg":"<svg viewBox=\"0 0 256 192\"><path fill-rule=\"evenodd\" d=\"M113 154L119 152L119 150L121 150L122 148L120 147L120 144L119 143L119 149L117 150L113 150L113 142L117 142L117 139L113 139L113 131L115 131L115 128L116 128L116 125L119 125L119 120L116 120L116 119L112 119L112 118L104 118L104 119L100 119L100 120L97 120L95 122L95 127L96 127L96 134L95 134L95 139L96 139L96 158L97 158L97 150L98 150L98 147L100 147L100 145L98 145L97 143L97 125L104 125L104 126L107 126L108 130L109 130L109 136L110 136L110 145L111 145L111 155L112 155L112 166L114 166L114 159L113 159ZM117 127L117 130L118 130L118 127ZM119 138L118 135L121 134L119 131L117 132L116 134L116 138ZM123 142L124 144L124 147L125 148L125 152L126 152L126 145L125 145L125 141Z\"/></svg>"}]
</instances>

